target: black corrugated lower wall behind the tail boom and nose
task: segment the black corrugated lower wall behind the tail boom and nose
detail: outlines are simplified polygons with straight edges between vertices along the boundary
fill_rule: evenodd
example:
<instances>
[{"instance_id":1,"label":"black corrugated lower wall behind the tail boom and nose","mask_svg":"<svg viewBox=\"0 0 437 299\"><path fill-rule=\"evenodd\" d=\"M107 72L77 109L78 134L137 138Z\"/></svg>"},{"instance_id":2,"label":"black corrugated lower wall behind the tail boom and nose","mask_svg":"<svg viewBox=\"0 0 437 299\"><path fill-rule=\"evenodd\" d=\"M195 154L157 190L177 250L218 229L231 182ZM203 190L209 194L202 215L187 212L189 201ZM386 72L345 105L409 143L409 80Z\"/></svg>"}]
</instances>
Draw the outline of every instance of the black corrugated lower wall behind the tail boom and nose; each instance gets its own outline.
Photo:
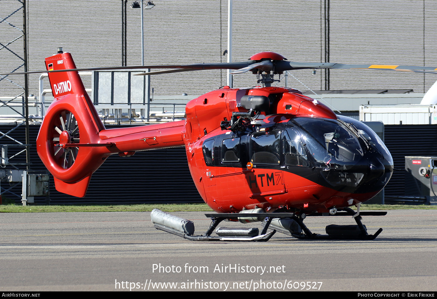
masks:
<instances>
[{"instance_id":1,"label":"black corrugated lower wall behind the tail boom and nose","mask_svg":"<svg viewBox=\"0 0 437 299\"><path fill-rule=\"evenodd\" d=\"M13 127L0 125L0 131L7 132ZM108 129L113 127L107 125ZM39 125L32 125L31 130L36 136ZM11 136L23 141L24 128L16 129ZM385 125L385 144L392 153L395 168L400 169L385 187L385 196L404 196L404 156L437 156L437 125ZM22 162L23 158L17 156L14 161ZM32 170L47 171L35 147L32 147L31 161ZM20 194L21 185L12 191ZM52 204L203 202L191 179L185 148L137 152L129 158L113 155L93 174L84 198L56 191L53 181L50 191ZM3 196L14 198L7 193ZM45 203L45 198L35 198L35 202Z\"/></svg>"}]
</instances>

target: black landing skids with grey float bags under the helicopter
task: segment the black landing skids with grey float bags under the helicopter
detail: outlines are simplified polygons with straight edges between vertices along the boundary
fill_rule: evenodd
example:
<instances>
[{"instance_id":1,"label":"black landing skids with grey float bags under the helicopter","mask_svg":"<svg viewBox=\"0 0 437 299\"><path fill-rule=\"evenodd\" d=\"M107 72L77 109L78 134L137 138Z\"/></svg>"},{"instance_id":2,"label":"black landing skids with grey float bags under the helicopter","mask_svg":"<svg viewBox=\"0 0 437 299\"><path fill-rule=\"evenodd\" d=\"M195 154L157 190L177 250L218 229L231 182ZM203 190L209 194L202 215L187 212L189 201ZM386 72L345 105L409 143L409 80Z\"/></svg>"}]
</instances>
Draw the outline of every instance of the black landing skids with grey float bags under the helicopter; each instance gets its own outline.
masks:
<instances>
[{"instance_id":1,"label":"black landing skids with grey float bags under the helicopter","mask_svg":"<svg viewBox=\"0 0 437 299\"><path fill-rule=\"evenodd\" d=\"M177 224L179 223L188 223L192 225L192 229L188 230L184 228L180 228L179 225L174 226L173 228L170 228L166 221L163 221L162 223L158 223L158 220L154 220L152 217L152 221L155 225L156 229L163 230L167 233L172 233L174 235L183 237L184 239L191 240L191 241L253 241L253 242L267 242L270 240L270 238L276 233L277 231L280 233L288 234L290 236L293 236L298 239L304 239L304 240L317 240L317 239L324 239L324 240L375 240L375 238L382 232L382 228L378 229L378 231L373 234L369 235L367 233L366 227L361 223L361 215L362 216L384 216L387 214L387 212L361 212L360 215L357 215L357 213L350 209L350 208L343 208L344 212L337 212L334 216L354 216L355 222L357 225L349 225L349 226L336 226L336 225L330 225L326 226L326 233L327 235L320 235L317 233L312 233L308 227L305 226L302 219L295 215L295 213L221 213L221 214L205 214L206 217L212 219L212 223L209 226L208 230L203 235L195 235L194 234L194 224L191 221L188 221L186 219L182 219L167 213L164 213L162 211L159 211L164 217L171 217L173 221L176 221ZM324 213L312 213L308 216L327 216ZM261 229L260 233L257 236L242 236L241 233L238 231L238 228L232 229L232 228L224 228L227 229L227 231L232 233L232 230L235 230L236 236L231 235L225 235L225 236L211 236L211 234L214 232L215 229L217 229L217 226L219 223L221 223L223 220L230 220L230 219L238 219L238 218L264 218L263 222L263 228ZM271 221L273 219L292 219L294 220L298 226L302 229L302 233L296 233L294 231L285 229L284 227L279 227L276 225L272 225ZM177 229L175 229L177 227ZM267 233L268 229L273 229L270 232ZM218 232L217 232L218 233Z\"/></svg>"}]
</instances>

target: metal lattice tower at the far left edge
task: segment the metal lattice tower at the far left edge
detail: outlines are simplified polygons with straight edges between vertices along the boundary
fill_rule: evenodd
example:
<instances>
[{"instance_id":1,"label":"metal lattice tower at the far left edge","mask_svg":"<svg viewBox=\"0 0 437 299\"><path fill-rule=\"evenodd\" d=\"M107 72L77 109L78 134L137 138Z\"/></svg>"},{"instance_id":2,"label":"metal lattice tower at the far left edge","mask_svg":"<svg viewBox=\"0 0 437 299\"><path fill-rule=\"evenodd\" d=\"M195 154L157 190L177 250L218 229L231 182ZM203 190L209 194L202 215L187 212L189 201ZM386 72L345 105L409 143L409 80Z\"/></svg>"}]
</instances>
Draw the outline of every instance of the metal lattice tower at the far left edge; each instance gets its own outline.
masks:
<instances>
[{"instance_id":1,"label":"metal lattice tower at the far left edge","mask_svg":"<svg viewBox=\"0 0 437 299\"><path fill-rule=\"evenodd\" d=\"M3 64L2 72L27 72L28 71L28 45L27 45L27 10L26 0L8 0L7 5L3 5L0 15L0 55L7 60ZM1 171L0 179L8 180L11 170L19 170L19 167L30 167L30 141L29 141L29 111L28 111L28 75L23 76L0 76L2 92L8 93L6 97L0 97L0 108L7 108L8 111L16 116L20 121L14 122L14 127L8 132L0 131L1 163L5 169ZM3 94L5 95L5 94ZM5 123L5 120L0 120ZM6 121L7 122L7 121ZM14 138L11 133L20 126L25 125L25 143ZM15 163L14 157L26 155L26 162ZM1 169L0 169L1 170ZM4 174L4 175L2 175ZM11 179L9 177L9 179ZM16 181L16 180L15 180ZM19 184L15 182L14 184ZM9 181L12 183L13 181ZM0 195L7 193L21 197L10 191L12 187L1 188ZM1 197L0 197L1 200Z\"/></svg>"}]
</instances>

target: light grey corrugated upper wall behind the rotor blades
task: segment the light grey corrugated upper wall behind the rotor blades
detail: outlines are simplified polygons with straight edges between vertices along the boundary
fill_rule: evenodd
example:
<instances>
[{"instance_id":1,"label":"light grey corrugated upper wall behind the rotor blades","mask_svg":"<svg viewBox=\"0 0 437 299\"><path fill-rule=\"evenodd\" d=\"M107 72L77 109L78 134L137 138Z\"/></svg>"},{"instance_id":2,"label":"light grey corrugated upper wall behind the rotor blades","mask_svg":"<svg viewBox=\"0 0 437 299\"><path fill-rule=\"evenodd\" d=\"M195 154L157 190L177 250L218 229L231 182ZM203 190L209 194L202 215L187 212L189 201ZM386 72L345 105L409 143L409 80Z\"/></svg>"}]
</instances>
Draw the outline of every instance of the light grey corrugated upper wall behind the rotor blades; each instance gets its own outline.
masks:
<instances>
[{"instance_id":1,"label":"light grey corrugated upper wall behind the rotor blades","mask_svg":"<svg viewBox=\"0 0 437 299\"><path fill-rule=\"evenodd\" d=\"M12 0L0 1L6 13ZM260 51L279 52L291 61L324 61L324 7L327 0L234 0L234 61ZM121 65L121 0L28 0L29 70L44 69L44 58L62 46L78 67ZM128 5L131 1L128 1ZM434 0L329 0L330 61L342 63L437 65L437 5ZM145 10L146 63L220 62L227 47L226 0L155 1ZM19 24L20 14L11 23ZM22 23L22 20L21 20ZM0 26L9 39L10 26ZM141 62L140 10L127 8L127 63ZM11 35L10 37L13 37ZM6 56L5 56L6 55ZM9 55L2 56L6 68ZM3 69L3 66L1 67ZM324 76L310 70L295 76L315 90L324 89ZM188 77L189 76L189 77ZM427 90L433 74L361 70L331 70L330 88ZM306 90L289 79L289 84ZM14 88L1 82L1 95ZM255 85L251 74L235 76L234 87ZM225 85L220 70L153 76L157 95L182 92L200 95ZM38 76L30 77L32 94L38 94Z\"/></svg>"}]
</instances>

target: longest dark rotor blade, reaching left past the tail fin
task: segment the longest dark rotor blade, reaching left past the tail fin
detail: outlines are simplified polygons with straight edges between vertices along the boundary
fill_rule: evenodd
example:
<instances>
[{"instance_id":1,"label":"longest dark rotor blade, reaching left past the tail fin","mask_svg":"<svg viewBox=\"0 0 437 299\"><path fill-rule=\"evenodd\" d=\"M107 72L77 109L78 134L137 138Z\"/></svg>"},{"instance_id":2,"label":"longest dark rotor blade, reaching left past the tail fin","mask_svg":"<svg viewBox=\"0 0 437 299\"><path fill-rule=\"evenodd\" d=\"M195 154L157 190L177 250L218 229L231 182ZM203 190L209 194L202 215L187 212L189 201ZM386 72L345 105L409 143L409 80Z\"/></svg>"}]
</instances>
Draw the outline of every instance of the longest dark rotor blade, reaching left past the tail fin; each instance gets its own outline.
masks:
<instances>
[{"instance_id":1,"label":"longest dark rotor blade, reaching left past the tail fin","mask_svg":"<svg viewBox=\"0 0 437 299\"><path fill-rule=\"evenodd\" d=\"M21 73L0 73L0 75L23 75L23 74L41 74L41 73L62 73L62 72L82 72L97 70L138 70L138 69L193 69L193 70L219 70L229 69L238 70L253 64L255 61L247 60L236 63L193 63L187 65L159 65L159 66L106 66L106 67L87 67L80 69L52 70L52 71L32 71Z\"/></svg>"}]
</instances>

